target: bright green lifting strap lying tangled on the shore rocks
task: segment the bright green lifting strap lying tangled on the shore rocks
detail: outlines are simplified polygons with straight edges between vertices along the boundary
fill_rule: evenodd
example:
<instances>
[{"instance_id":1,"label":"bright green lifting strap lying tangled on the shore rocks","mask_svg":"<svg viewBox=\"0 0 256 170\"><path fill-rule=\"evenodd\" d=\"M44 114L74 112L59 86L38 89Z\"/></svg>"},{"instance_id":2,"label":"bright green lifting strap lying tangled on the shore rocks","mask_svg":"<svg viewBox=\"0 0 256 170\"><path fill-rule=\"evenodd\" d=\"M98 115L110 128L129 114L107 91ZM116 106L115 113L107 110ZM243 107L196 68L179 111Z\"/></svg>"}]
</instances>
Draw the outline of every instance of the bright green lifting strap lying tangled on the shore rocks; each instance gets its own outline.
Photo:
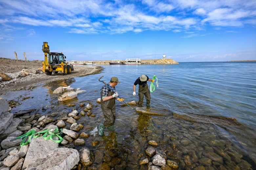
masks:
<instances>
[{"instance_id":1,"label":"bright green lifting strap lying tangled on the shore rocks","mask_svg":"<svg viewBox=\"0 0 256 170\"><path fill-rule=\"evenodd\" d=\"M8 142L11 142L11 141L14 141L16 139L20 139L20 138L24 138L22 140L22 142L20 143L20 147L21 146L24 146L24 145L27 145L31 142L31 139L32 138L37 138L40 136L40 134L44 133L43 135L43 139L44 140L48 140L48 139L51 139L53 142L56 142L56 143L61 143L63 138L61 136L59 136L59 134L62 134L62 129L60 129L60 132L58 128L53 128L54 129L54 132L51 132L50 130L51 129L46 129L46 130L42 130L42 131L39 131L36 133L36 131L34 129L28 131L27 133L21 135L21 136L18 136L16 138L13 138L13 139L10 139ZM54 140L53 137L57 136L59 138L59 140ZM28 140L27 140L28 139Z\"/></svg>"}]
</instances>

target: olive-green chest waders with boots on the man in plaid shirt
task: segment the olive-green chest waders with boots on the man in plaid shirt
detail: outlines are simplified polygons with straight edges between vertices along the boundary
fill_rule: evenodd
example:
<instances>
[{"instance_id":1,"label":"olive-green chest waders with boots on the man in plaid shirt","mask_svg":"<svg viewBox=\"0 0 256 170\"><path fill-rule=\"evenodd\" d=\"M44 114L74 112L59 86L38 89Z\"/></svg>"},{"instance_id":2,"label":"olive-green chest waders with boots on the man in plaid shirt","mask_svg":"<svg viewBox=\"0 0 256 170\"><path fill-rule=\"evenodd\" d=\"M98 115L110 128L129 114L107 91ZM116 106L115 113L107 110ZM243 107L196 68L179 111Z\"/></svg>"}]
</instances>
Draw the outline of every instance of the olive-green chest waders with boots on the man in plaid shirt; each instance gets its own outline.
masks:
<instances>
[{"instance_id":1,"label":"olive-green chest waders with boots on the man in plaid shirt","mask_svg":"<svg viewBox=\"0 0 256 170\"><path fill-rule=\"evenodd\" d=\"M109 90L108 96L111 96L113 94L114 93ZM102 99L102 93L100 93L100 96L101 96L101 99ZM100 106L101 106L101 110L102 110L104 118L105 118L105 121L98 126L98 133L99 133L100 136L102 136L104 128L107 127L109 130L114 129L114 123L115 123L115 120L116 120L116 101L115 101L115 97L110 99L110 100L107 100L107 101L101 100Z\"/></svg>"}]
</instances>

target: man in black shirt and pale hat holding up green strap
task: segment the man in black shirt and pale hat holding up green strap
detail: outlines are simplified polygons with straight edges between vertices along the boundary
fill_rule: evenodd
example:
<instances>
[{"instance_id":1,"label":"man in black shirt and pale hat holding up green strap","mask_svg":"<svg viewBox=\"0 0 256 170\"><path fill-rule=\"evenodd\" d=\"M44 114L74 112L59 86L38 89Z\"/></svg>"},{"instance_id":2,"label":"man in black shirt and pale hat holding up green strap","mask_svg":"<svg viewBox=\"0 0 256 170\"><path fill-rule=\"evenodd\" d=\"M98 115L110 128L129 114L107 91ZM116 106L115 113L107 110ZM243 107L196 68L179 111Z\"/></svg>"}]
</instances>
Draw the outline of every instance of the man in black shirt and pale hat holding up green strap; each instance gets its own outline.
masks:
<instances>
[{"instance_id":1,"label":"man in black shirt and pale hat holding up green strap","mask_svg":"<svg viewBox=\"0 0 256 170\"><path fill-rule=\"evenodd\" d=\"M135 88L136 85L139 84L139 107L142 107L143 104L143 98L145 95L146 101L147 101L147 107L150 108L150 92L148 89L147 81L153 81L152 79L148 78L148 76L141 75L133 84L133 95L135 96Z\"/></svg>"}]
</instances>

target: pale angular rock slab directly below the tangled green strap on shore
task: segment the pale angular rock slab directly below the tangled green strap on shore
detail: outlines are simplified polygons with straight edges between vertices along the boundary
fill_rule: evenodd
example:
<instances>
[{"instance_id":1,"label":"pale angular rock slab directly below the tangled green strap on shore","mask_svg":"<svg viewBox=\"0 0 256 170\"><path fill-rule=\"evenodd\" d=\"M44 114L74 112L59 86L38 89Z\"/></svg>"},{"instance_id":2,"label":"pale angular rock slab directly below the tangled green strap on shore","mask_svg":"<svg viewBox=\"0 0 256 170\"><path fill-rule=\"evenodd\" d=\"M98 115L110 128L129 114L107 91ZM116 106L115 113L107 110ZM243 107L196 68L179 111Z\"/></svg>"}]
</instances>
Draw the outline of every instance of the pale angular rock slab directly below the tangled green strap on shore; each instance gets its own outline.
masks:
<instances>
[{"instance_id":1,"label":"pale angular rock slab directly below the tangled green strap on shore","mask_svg":"<svg viewBox=\"0 0 256 170\"><path fill-rule=\"evenodd\" d=\"M27 168L27 165L32 161L36 162L40 159L47 158L47 154L56 149L58 145L58 143L55 143L52 140L44 140L42 136L33 138L25 157L22 169Z\"/></svg>"}]
</instances>

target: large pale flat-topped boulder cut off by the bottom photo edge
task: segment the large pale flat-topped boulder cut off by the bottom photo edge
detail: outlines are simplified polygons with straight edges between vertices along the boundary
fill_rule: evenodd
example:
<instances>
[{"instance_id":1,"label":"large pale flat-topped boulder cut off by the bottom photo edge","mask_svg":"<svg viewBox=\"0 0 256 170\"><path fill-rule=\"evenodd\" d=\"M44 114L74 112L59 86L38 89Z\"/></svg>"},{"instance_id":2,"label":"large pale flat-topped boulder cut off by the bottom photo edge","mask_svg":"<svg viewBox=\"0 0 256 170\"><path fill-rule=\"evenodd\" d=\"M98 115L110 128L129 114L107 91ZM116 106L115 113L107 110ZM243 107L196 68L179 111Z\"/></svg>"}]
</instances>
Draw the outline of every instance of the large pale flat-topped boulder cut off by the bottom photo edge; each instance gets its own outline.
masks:
<instances>
[{"instance_id":1,"label":"large pale flat-topped boulder cut off by the bottom photo edge","mask_svg":"<svg viewBox=\"0 0 256 170\"><path fill-rule=\"evenodd\" d=\"M38 160L31 161L26 170L63 169L70 170L79 162L79 153L71 148L56 148Z\"/></svg>"}]
</instances>

